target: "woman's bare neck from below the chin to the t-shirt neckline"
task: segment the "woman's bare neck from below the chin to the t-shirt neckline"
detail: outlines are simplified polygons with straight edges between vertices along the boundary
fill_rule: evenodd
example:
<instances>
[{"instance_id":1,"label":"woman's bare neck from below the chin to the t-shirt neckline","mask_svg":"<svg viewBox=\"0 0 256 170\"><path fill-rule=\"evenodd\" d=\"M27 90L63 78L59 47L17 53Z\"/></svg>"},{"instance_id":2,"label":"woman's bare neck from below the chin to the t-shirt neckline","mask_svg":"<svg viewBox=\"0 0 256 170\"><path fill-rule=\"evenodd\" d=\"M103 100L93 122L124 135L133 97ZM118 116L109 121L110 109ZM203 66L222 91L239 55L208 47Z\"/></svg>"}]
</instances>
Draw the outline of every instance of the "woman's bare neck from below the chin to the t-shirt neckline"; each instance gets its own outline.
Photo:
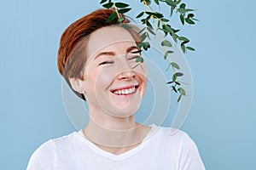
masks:
<instances>
[{"instance_id":1,"label":"woman's bare neck from below the chin to the t-shirt neckline","mask_svg":"<svg viewBox=\"0 0 256 170\"><path fill-rule=\"evenodd\" d=\"M90 110L84 136L102 150L119 155L141 144L150 127L135 122L135 116L116 117Z\"/></svg>"}]
</instances>

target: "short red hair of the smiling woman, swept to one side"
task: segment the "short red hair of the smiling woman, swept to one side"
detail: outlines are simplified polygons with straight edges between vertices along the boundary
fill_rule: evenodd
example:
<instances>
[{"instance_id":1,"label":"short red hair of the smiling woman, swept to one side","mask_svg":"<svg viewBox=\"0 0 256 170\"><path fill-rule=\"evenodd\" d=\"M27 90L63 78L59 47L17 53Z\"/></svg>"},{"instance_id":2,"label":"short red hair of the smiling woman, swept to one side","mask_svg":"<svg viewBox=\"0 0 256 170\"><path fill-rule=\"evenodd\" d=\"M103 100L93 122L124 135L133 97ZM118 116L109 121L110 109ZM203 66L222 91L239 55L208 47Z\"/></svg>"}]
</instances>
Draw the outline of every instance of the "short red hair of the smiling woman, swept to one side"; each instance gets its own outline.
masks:
<instances>
[{"instance_id":1,"label":"short red hair of the smiling woman, swept to one side","mask_svg":"<svg viewBox=\"0 0 256 170\"><path fill-rule=\"evenodd\" d=\"M63 32L58 51L58 68L70 88L72 88L69 82L70 77L83 80L86 62L86 45L90 34L102 27L119 24L117 17L111 22L107 22L108 17L113 12L113 9L98 9L75 21ZM127 20L124 14L121 14L121 17L125 19L122 23L130 23L130 20ZM138 42L139 37L137 36L137 31L133 29L128 29L128 31L130 31L132 37ZM74 90L73 92L85 100L83 94L79 94Z\"/></svg>"}]
</instances>

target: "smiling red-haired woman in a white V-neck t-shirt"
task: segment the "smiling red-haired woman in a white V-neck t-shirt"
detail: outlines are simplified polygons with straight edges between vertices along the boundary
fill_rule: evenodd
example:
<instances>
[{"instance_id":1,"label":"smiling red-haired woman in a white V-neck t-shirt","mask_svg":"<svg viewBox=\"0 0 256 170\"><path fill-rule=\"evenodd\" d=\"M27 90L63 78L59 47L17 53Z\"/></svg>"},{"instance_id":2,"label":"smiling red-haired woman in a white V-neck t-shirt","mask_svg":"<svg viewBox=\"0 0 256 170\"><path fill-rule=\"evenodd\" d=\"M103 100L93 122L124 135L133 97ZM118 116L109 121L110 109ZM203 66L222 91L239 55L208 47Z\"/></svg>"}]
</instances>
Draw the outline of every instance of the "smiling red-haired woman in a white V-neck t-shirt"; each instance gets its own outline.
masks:
<instances>
[{"instance_id":1,"label":"smiling red-haired woman in a white V-neck t-shirt","mask_svg":"<svg viewBox=\"0 0 256 170\"><path fill-rule=\"evenodd\" d=\"M42 144L27 169L205 169L186 133L171 135L171 128L135 121L147 68L137 62L136 27L125 29L117 19L106 22L112 13L96 10L64 31L59 70L74 93L86 99L90 121L79 132Z\"/></svg>"}]
</instances>

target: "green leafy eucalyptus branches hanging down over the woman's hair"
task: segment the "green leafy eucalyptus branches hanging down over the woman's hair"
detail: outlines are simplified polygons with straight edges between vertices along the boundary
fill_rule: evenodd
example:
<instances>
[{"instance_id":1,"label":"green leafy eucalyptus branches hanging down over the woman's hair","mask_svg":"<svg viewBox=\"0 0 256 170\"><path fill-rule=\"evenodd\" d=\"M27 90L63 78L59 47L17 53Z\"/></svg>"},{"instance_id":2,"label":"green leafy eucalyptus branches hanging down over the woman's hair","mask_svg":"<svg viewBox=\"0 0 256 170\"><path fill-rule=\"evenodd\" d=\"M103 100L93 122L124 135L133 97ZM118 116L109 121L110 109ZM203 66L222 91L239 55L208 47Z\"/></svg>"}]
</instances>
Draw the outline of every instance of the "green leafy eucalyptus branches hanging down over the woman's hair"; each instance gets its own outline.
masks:
<instances>
[{"instance_id":1,"label":"green leafy eucalyptus branches hanging down over the woman's hair","mask_svg":"<svg viewBox=\"0 0 256 170\"><path fill-rule=\"evenodd\" d=\"M165 15L160 12L154 11L154 8L152 8L150 5L152 2L151 0L140 0L140 2L143 3L144 8L142 12L137 14L136 18L141 18L144 16L144 18L141 19L141 23L145 27L139 32L139 34L141 34L141 37L140 37L140 43L138 44L138 48L143 48L144 50L148 50L148 48L150 48L150 43L146 42L146 39L148 38L150 40L150 35L155 36L156 35L155 31L160 33L160 37L161 37L160 45L166 49L165 50L166 52L164 54L164 59L167 59L169 62L169 65L167 66L166 71L168 71L171 65L172 65L172 71L173 71L172 81L167 83L172 85L172 90L175 93L180 94L177 99L177 101L179 101L182 98L182 96L186 95L185 90L182 88L182 85L181 85L181 83L183 82L181 82L178 78L178 77L183 77L183 73L178 72L178 70L180 69L179 65L177 65L177 63L173 62L172 59L168 57L170 54L173 53L173 51L169 49L169 48L172 48L172 42L168 41L166 37L168 36L172 37L176 45L177 45L177 42L179 42L183 53L186 53L187 50L195 51L195 48L187 46L187 44L189 43L189 38L177 35L177 32L180 30L176 30L172 28L172 26L169 24L170 20L167 19L168 17L165 17ZM122 21L125 19L121 17L121 14L125 14L131 10L129 4L115 3L114 0L102 0L100 3L104 8L114 8L114 12L109 16L107 22L110 22L114 20L116 17L118 17L119 23L122 24ZM154 0L154 3L159 7L160 5L167 5L168 7L170 7L169 17L172 17L172 15L175 14L174 13L175 11L176 14L179 15L179 20L183 26L185 24L195 25L195 21L197 21L197 19L194 18L195 14L193 14L195 10L191 8L186 8L186 4L182 3L182 0ZM150 20L153 20L154 26L151 25ZM154 27L155 27L155 31L154 31ZM138 58L137 62L143 62L143 58Z\"/></svg>"}]
</instances>

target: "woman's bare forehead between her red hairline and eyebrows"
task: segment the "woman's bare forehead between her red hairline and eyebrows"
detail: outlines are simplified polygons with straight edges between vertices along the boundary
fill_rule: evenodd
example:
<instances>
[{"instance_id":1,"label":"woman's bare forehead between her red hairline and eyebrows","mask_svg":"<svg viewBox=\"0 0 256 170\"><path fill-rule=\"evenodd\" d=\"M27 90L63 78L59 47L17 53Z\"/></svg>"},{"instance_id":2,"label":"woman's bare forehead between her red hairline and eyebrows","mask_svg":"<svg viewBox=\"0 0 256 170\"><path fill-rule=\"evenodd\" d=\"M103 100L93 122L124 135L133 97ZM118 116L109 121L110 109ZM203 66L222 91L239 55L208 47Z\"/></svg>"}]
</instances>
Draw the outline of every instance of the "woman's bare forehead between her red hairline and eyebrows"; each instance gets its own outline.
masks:
<instances>
[{"instance_id":1,"label":"woman's bare forehead between her red hairline and eyebrows","mask_svg":"<svg viewBox=\"0 0 256 170\"><path fill-rule=\"evenodd\" d=\"M102 48L107 48L117 42L129 42L136 45L131 33L125 28L119 26L103 27L97 31L94 31L90 35L89 42L87 44L87 53L89 56L95 55Z\"/></svg>"}]
</instances>

